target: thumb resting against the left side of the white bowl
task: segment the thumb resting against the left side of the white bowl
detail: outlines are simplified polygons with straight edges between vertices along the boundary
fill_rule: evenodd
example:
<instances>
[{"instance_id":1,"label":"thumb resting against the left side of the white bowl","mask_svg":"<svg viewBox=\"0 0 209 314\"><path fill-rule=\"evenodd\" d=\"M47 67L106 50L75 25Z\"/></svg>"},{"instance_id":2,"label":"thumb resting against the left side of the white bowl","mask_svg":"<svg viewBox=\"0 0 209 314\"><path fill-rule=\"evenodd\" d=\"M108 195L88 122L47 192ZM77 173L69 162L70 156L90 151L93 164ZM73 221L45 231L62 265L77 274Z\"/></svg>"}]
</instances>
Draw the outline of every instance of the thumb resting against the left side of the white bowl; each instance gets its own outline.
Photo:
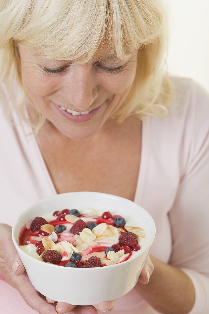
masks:
<instances>
[{"instance_id":1,"label":"thumb resting against the left side of the white bowl","mask_svg":"<svg viewBox=\"0 0 209 314\"><path fill-rule=\"evenodd\" d=\"M0 224L0 230L0 255L7 267L19 276L25 272L25 267L12 241L12 228L9 225Z\"/></svg>"}]
</instances>

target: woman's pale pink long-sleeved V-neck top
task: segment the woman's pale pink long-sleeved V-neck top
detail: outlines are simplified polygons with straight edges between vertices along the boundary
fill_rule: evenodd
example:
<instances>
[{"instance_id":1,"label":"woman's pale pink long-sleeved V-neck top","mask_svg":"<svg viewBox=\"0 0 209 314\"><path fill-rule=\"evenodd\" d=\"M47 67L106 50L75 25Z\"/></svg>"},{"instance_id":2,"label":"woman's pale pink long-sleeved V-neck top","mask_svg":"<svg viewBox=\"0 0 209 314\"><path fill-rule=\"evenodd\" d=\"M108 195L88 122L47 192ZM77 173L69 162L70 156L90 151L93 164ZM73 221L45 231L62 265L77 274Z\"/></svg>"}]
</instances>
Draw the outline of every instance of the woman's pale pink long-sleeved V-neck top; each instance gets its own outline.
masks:
<instances>
[{"instance_id":1,"label":"woman's pale pink long-sleeved V-neck top","mask_svg":"<svg viewBox=\"0 0 209 314\"><path fill-rule=\"evenodd\" d=\"M166 117L147 116L142 129L135 202L156 224L150 253L181 268L195 287L190 314L209 312L209 94L190 78L171 77L178 97ZM3 86L2 86L3 88ZM1 99L5 93L2 92ZM1 102L1 100L0 100ZM2 110L0 108L0 110ZM30 127L0 115L1 222L12 225L30 204L56 194ZM0 273L4 313L32 314ZM116 302L114 314L154 314L137 288Z\"/></svg>"}]
</instances>

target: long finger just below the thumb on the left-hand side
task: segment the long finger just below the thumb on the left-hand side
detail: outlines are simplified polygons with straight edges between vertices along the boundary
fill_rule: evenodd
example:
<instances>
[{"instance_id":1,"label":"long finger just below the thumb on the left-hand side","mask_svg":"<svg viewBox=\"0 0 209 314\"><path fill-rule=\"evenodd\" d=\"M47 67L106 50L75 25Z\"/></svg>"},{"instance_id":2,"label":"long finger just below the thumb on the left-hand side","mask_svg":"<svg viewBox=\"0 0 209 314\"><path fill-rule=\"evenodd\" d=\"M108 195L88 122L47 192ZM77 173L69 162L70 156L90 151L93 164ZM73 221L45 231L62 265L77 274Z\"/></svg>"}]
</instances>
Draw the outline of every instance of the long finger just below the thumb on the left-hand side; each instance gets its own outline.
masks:
<instances>
[{"instance_id":1,"label":"long finger just below the thumb on the left-hand side","mask_svg":"<svg viewBox=\"0 0 209 314\"><path fill-rule=\"evenodd\" d=\"M55 307L44 300L38 291L32 286L26 273L23 273L18 279L17 290L25 302L39 314L57 314Z\"/></svg>"}]
</instances>

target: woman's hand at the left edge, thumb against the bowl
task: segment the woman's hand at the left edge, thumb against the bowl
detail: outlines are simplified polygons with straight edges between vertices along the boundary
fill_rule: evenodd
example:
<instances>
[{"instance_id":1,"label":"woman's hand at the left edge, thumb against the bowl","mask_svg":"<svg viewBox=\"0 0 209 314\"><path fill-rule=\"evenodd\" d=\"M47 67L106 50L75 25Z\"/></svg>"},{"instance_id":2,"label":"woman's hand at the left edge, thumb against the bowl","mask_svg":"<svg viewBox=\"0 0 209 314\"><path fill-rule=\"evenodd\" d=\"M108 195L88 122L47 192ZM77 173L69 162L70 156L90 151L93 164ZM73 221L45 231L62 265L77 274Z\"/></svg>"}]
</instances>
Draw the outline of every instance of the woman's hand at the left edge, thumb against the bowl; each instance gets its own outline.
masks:
<instances>
[{"instance_id":1,"label":"woman's hand at the left edge, thumb against the bowl","mask_svg":"<svg viewBox=\"0 0 209 314\"><path fill-rule=\"evenodd\" d=\"M57 314L55 306L32 286L12 241L12 228L0 224L0 271L25 302L39 314Z\"/></svg>"}]
</instances>

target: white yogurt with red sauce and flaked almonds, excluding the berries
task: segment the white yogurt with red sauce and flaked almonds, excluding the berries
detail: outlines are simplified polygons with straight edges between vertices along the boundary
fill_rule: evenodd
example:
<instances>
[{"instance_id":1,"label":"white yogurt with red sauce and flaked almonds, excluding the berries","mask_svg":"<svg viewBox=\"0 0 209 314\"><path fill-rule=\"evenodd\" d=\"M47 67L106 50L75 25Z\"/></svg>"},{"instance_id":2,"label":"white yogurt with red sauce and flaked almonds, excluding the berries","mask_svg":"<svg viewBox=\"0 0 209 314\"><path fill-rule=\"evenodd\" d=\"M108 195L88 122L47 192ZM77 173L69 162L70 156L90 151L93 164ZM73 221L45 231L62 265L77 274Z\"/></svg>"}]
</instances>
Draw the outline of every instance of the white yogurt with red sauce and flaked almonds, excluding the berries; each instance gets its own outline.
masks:
<instances>
[{"instance_id":1,"label":"white yogurt with red sauce and flaked almonds, excluding the berries","mask_svg":"<svg viewBox=\"0 0 209 314\"><path fill-rule=\"evenodd\" d=\"M48 222L48 225L51 225L51 229L54 230L51 233L46 233L46 231L41 230L31 231L30 226L35 217L30 219L30 221L21 229L19 234L19 246L22 251L31 257L44 262L42 259L43 253L47 252L47 249L55 250L62 256L62 259L58 263L54 263L58 266L65 266L67 263L71 262L77 265L75 267L82 267L92 256L96 256L101 260L101 266L110 266L122 263L129 258L136 256L140 253L140 249L143 249L146 246L146 230L143 230L141 229L141 226L136 225L136 222L131 219L128 214L123 217L125 219L125 224L120 226L114 223L116 217L121 217L116 213L116 210L111 210L109 216L112 217L108 219L104 218L104 209L80 207L77 208L77 210L79 211L78 217L68 214L70 209L64 209L59 213L54 212L41 216ZM58 216L55 216L55 214L58 214ZM70 232L70 229L80 219L86 223L86 228L80 231L79 234L75 235ZM97 225L92 230L88 228L90 222L95 222ZM56 232L56 226L58 225L65 226L66 230L60 233ZM41 229L44 229L46 226L47 224L41 226ZM49 228L49 226L47 226L47 228ZM100 234L100 231L102 234ZM40 232L42 232L42 234ZM132 234L134 233L138 242L138 247L131 247L120 243L119 237L122 234L127 234L129 232ZM88 236L90 236L90 238ZM93 240L89 242L88 239ZM37 242L39 242L38 246ZM46 246L48 246L48 248ZM114 251L111 250L106 254L106 249L110 247L113 248ZM133 248L136 248L137 250L134 250ZM128 253L126 252L127 250ZM42 253L40 254L40 252ZM81 256L79 263L71 260L72 254L76 252Z\"/></svg>"}]
</instances>

